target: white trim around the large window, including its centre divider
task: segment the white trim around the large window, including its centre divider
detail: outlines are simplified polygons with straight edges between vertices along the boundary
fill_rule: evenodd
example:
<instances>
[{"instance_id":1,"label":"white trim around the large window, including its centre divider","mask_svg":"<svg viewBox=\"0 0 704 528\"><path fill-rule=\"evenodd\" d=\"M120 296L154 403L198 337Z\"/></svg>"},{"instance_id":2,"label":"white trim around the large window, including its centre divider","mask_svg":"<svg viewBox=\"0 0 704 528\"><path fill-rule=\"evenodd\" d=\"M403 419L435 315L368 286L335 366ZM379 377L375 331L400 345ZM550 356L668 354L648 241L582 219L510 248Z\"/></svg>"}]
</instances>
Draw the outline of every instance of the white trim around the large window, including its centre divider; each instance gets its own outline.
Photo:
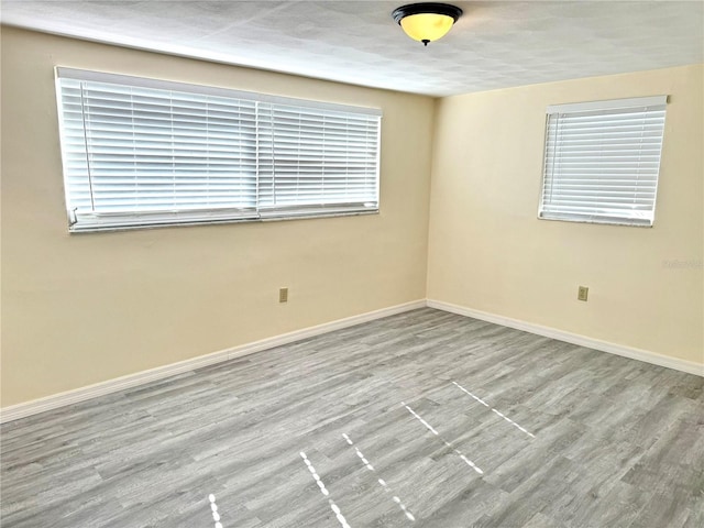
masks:
<instances>
[{"instance_id":1,"label":"white trim around the large window, including its centre divider","mask_svg":"<svg viewBox=\"0 0 704 528\"><path fill-rule=\"evenodd\" d=\"M256 190L256 205L253 211L249 208L242 209L239 207L217 209L199 209L198 213L188 213L186 209L180 209L169 212L147 212L135 211L133 213L110 213L101 212L96 215L106 219L102 221L84 222L79 224L76 222L75 215L70 210L70 194L68 189L68 166L65 153L65 146L67 144L64 112L62 106L62 88L61 79L70 78L78 81L96 81L108 82L117 85L127 85L138 88L157 89L157 90L173 90L179 92L197 94L199 96L215 96L226 97L245 101L252 101L254 103L265 103L272 106L286 106L295 107L297 110L305 111L311 109L320 112L341 112L350 113L359 117L369 116L371 118L378 118L376 122L375 139L376 152L374 158L374 201L359 201L359 202L344 202L339 205L316 204L316 205L301 205L294 206L292 208L278 207L274 210L263 206L258 199L260 190ZM253 91L235 90L230 88L222 88L208 85L196 85L190 82L182 82L174 80L162 80L147 77L139 77L123 74L112 74L95 70L85 70L68 68L63 66L55 67L55 82L56 82L56 97L57 97L57 116L58 128L61 139L61 154L62 154L62 168L64 180L64 196L65 206L68 216L69 232L97 232L97 231L122 231L132 229L148 229L148 228L162 228L162 227L179 227L179 226L200 226L200 224L219 224L219 223L240 223L240 222L257 222L257 221L279 221L279 220L298 220L310 218L329 218L329 217L342 217L342 216L361 216L361 215L376 215L380 212L380 194L381 194L381 148L382 148L382 131L381 122L383 112L377 108L358 107L352 105L340 105L324 101L316 101L309 99L300 99L293 97L283 97L268 94L258 94ZM272 112L274 110L272 109ZM273 118L272 118L273 119ZM272 124L273 127L273 124ZM372 125L373 128L374 125ZM258 125L257 125L258 129ZM258 131L255 132L258 142ZM257 154L257 160L258 154ZM258 165L258 161L257 161ZM272 176L274 177L274 176ZM256 186L258 188L260 173L257 169ZM234 211L244 211L244 213L235 213ZM183 215L183 220L178 220L178 216ZM111 222L107 219L110 217L121 218L121 222Z\"/></svg>"}]
</instances>

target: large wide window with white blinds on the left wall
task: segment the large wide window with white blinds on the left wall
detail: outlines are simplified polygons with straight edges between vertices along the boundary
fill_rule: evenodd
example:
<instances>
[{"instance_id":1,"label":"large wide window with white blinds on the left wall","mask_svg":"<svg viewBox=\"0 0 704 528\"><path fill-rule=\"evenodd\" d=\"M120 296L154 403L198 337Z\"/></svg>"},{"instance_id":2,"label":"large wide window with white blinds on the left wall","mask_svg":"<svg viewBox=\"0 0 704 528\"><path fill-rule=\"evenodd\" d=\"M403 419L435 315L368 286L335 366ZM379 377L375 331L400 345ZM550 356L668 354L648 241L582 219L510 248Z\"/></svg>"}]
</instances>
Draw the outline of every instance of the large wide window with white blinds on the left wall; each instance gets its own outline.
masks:
<instances>
[{"instance_id":1,"label":"large wide window with white blinds on the left wall","mask_svg":"<svg viewBox=\"0 0 704 528\"><path fill-rule=\"evenodd\" d=\"M72 231L378 210L380 110L56 73Z\"/></svg>"}]
</instances>

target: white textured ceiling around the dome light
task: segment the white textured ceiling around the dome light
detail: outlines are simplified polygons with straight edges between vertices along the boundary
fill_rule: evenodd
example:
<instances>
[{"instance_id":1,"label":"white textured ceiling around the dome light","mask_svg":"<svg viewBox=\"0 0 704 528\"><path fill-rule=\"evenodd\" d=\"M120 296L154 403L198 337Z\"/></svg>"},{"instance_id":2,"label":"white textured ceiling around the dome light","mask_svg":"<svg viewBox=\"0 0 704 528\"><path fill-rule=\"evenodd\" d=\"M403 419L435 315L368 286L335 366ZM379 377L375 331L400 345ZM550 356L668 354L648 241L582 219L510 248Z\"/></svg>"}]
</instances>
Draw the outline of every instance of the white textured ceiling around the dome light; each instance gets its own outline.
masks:
<instances>
[{"instance_id":1,"label":"white textured ceiling around the dome light","mask_svg":"<svg viewBox=\"0 0 704 528\"><path fill-rule=\"evenodd\" d=\"M409 0L410 1L410 0ZM452 2L425 48L400 1L2 0L6 24L229 64L448 96L704 62L704 1Z\"/></svg>"}]
</instances>

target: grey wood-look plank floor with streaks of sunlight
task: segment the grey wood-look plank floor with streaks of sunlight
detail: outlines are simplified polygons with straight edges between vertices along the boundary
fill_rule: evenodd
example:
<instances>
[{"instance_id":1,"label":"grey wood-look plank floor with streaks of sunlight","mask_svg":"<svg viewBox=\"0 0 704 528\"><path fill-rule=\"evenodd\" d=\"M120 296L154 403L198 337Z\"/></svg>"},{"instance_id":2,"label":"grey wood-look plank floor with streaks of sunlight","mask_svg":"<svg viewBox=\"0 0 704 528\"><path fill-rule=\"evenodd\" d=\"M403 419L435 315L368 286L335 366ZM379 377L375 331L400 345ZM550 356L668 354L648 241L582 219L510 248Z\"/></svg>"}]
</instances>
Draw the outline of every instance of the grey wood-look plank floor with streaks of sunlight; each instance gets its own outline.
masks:
<instances>
[{"instance_id":1,"label":"grey wood-look plank floor with streaks of sunlight","mask_svg":"<svg viewBox=\"0 0 704 528\"><path fill-rule=\"evenodd\" d=\"M6 424L1 525L701 528L703 386L421 309Z\"/></svg>"}]
</instances>

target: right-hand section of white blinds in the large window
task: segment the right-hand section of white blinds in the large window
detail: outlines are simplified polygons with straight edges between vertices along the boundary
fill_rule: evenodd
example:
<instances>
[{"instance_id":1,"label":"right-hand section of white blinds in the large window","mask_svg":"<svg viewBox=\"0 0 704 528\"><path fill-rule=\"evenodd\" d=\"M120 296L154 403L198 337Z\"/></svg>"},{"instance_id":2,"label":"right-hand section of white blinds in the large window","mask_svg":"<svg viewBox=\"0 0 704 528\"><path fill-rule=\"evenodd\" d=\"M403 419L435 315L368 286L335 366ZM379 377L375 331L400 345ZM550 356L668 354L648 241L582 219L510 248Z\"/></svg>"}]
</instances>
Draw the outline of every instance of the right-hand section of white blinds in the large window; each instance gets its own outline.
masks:
<instances>
[{"instance_id":1,"label":"right-hand section of white blinds in the large window","mask_svg":"<svg viewBox=\"0 0 704 528\"><path fill-rule=\"evenodd\" d=\"M376 207L378 120L263 103L258 122L263 215Z\"/></svg>"}]
</instances>

